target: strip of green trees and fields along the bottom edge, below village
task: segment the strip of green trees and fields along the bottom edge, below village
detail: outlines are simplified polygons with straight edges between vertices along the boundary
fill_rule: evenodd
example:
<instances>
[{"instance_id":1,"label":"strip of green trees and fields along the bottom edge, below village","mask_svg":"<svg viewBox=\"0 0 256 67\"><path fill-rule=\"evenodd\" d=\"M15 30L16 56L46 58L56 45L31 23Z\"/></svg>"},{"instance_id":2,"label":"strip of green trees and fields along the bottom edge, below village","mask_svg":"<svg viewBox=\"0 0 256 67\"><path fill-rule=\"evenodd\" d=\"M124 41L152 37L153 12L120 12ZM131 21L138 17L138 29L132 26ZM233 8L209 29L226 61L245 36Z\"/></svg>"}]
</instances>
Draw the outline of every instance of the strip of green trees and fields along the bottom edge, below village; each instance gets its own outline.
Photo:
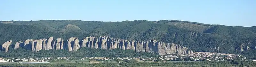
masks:
<instances>
[{"instance_id":1,"label":"strip of green trees and fields along the bottom edge, below village","mask_svg":"<svg viewBox=\"0 0 256 67\"><path fill-rule=\"evenodd\" d=\"M118 63L70 63L70 64L4 64L1 67L253 67L256 62L253 61L204 61L204 62L162 62L148 63L135 60L126 60Z\"/></svg>"}]
</instances>

